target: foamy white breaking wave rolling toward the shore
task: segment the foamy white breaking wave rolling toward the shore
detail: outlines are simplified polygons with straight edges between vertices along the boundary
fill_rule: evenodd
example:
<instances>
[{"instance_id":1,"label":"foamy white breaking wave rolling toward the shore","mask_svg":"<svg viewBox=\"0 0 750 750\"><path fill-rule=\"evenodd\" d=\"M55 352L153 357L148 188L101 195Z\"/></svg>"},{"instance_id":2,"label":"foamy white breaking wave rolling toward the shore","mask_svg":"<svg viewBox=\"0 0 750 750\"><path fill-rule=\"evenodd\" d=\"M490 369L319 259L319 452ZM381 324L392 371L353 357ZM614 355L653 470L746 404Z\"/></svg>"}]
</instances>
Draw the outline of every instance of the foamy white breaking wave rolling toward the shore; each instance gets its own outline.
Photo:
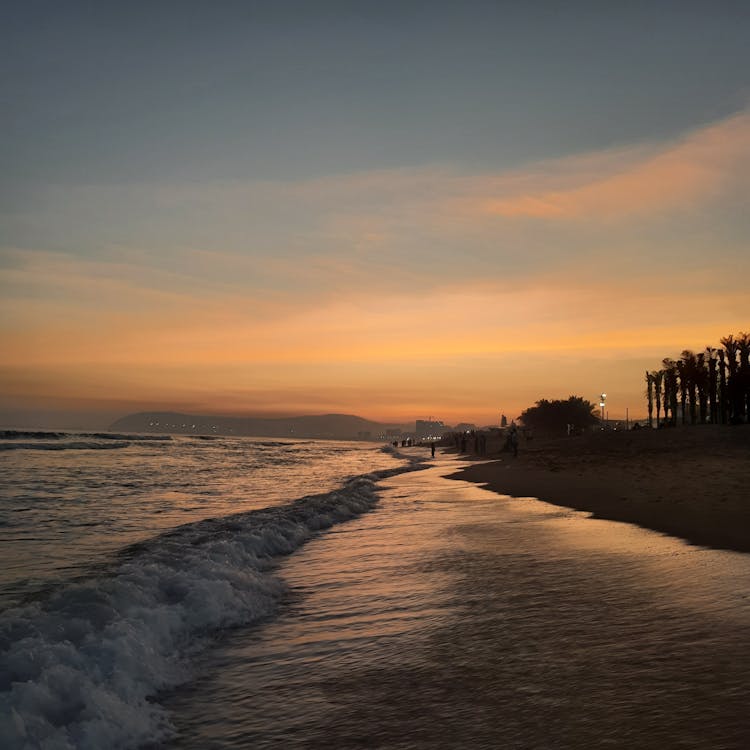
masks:
<instances>
[{"instance_id":1,"label":"foamy white breaking wave rolling toward the shore","mask_svg":"<svg viewBox=\"0 0 750 750\"><path fill-rule=\"evenodd\" d=\"M107 569L0 615L0 746L103 748L172 734L159 691L190 676L189 656L218 630L272 616L278 558L370 510L363 475L283 506L178 527L124 549Z\"/></svg>"}]
</instances>

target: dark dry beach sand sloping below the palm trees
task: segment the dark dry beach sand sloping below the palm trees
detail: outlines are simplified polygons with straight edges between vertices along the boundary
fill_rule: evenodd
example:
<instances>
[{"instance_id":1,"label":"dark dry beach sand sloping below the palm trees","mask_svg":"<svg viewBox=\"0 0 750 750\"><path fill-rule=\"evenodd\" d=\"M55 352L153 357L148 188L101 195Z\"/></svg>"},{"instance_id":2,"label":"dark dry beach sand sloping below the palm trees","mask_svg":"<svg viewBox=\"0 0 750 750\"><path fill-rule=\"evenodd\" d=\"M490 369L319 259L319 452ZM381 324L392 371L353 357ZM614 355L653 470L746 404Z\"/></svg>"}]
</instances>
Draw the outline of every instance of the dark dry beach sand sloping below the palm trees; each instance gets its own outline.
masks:
<instances>
[{"instance_id":1,"label":"dark dry beach sand sloping below the palm trees","mask_svg":"<svg viewBox=\"0 0 750 750\"><path fill-rule=\"evenodd\" d=\"M452 478L750 552L750 425L595 432L524 441Z\"/></svg>"}]
</instances>

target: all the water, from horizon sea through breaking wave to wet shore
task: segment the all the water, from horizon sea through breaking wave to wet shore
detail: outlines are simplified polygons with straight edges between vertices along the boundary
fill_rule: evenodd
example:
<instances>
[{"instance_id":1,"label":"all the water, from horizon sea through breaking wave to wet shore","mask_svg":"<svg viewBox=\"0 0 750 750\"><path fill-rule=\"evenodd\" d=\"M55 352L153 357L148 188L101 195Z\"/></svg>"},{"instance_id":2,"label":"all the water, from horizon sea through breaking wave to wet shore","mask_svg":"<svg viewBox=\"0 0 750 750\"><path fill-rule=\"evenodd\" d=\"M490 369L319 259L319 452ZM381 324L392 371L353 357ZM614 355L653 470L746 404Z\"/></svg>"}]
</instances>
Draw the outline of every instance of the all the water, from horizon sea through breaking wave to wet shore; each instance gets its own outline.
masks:
<instances>
[{"instance_id":1,"label":"all the water, from horizon sea through breaking wave to wet shore","mask_svg":"<svg viewBox=\"0 0 750 750\"><path fill-rule=\"evenodd\" d=\"M748 746L748 556L462 465L0 433L0 747Z\"/></svg>"}]
</instances>

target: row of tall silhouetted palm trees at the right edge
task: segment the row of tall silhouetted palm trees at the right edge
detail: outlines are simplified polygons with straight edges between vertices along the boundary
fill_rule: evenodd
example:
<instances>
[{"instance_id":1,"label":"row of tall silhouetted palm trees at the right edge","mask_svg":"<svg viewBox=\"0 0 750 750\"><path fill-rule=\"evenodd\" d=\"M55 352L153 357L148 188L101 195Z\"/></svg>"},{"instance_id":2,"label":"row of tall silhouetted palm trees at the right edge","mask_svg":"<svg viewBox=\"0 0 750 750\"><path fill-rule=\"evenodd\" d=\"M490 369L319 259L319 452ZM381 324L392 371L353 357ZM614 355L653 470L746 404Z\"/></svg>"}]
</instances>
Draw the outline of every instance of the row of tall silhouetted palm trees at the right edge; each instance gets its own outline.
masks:
<instances>
[{"instance_id":1,"label":"row of tall silhouetted palm trees at the right edge","mask_svg":"<svg viewBox=\"0 0 750 750\"><path fill-rule=\"evenodd\" d=\"M721 339L721 347L685 349L646 372L648 423L742 424L750 416L750 333Z\"/></svg>"}]
</instances>

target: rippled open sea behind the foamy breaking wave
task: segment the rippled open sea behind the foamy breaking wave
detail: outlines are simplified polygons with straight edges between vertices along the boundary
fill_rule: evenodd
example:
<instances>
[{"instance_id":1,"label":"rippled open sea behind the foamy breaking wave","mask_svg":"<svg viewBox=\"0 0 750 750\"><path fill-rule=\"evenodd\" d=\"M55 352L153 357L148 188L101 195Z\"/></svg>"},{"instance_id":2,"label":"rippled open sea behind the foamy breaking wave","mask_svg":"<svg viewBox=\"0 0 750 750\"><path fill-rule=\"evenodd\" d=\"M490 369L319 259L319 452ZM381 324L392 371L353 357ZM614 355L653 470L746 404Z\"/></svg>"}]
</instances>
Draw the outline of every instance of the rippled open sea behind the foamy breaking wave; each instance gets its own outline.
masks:
<instances>
[{"instance_id":1,"label":"rippled open sea behind the foamy breaking wave","mask_svg":"<svg viewBox=\"0 0 750 750\"><path fill-rule=\"evenodd\" d=\"M399 464L367 443L52 434L0 438L0 607L160 532Z\"/></svg>"}]
</instances>

